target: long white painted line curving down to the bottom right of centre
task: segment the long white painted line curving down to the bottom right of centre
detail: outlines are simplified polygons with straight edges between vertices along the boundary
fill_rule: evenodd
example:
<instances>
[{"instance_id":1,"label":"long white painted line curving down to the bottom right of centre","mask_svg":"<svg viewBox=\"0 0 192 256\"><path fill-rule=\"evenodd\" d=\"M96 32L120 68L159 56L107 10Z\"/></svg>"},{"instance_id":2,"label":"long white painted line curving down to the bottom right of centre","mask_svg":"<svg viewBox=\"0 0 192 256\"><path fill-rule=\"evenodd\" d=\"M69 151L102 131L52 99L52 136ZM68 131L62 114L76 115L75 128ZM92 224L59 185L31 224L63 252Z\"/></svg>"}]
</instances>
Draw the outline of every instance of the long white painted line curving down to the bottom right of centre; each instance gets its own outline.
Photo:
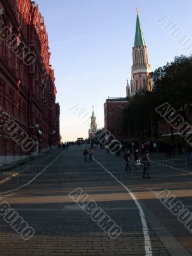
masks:
<instances>
[{"instance_id":1,"label":"long white painted line curving down to the bottom right of centre","mask_svg":"<svg viewBox=\"0 0 192 256\"><path fill-rule=\"evenodd\" d=\"M122 182L120 182L120 180L116 179L116 177L109 172L101 163L99 163L99 161L97 161L95 159L95 157L93 157L93 160L98 163L106 172L109 173L109 175L111 175L111 177L113 177L113 179L116 180L116 182L118 182L120 185L122 185L125 190L131 195L132 200L134 200L134 203L136 204L136 206L138 207L139 211L140 211L140 218L141 218L141 223L142 223L142 227L143 227L143 237L144 237L144 244L145 244L145 255L149 256L152 255L152 246L150 243L150 235L148 234L148 226L147 226L147 221L145 219L145 214L143 212L143 209L140 205L140 203L138 202L137 198L134 196L134 194L131 192L131 190L129 188L127 188Z\"/></svg>"}]
</instances>

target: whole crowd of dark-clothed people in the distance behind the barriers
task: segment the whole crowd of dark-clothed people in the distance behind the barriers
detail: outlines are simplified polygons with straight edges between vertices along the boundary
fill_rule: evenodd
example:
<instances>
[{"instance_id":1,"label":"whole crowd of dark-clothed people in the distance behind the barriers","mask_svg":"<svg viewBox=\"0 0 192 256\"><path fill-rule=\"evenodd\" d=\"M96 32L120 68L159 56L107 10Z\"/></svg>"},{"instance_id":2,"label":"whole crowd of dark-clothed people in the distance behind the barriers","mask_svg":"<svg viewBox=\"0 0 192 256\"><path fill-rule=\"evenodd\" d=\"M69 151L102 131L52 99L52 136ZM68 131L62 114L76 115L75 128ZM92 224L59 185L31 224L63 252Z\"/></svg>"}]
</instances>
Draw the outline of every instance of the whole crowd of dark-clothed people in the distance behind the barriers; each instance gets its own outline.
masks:
<instances>
[{"instance_id":1,"label":"whole crowd of dark-clothed people in the distance behind the barriers","mask_svg":"<svg viewBox=\"0 0 192 256\"><path fill-rule=\"evenodd\" d=\"M93 148L98 147L100 145L100 149L105 149L107 153L111 152L111 148L109 143L103 145L99 143L99 141L95 141L91 144L91 147L83 151L84 162L88 160L92 162L93 156ZM175 156L175 148L178 149L179 154L187 154L188 152L188 160L192 159L192 147L188 145L187 151L185 150L186 145L184 143L175 143L164 142L162 140L159 141L122 141L121 148L118 150L118 156L123 153L125 159L125 171L131 172L131 166L134 166L136 170L138 170L139 166L143 167L143 179L150 179L149 168L150 168L150 157L149 152L159 152L165 153L166 157L174 157ZM134 154L134 161L131 164L131 154ZM87 156L89 155L89 159Z\"/></svg>"}]
</instances>

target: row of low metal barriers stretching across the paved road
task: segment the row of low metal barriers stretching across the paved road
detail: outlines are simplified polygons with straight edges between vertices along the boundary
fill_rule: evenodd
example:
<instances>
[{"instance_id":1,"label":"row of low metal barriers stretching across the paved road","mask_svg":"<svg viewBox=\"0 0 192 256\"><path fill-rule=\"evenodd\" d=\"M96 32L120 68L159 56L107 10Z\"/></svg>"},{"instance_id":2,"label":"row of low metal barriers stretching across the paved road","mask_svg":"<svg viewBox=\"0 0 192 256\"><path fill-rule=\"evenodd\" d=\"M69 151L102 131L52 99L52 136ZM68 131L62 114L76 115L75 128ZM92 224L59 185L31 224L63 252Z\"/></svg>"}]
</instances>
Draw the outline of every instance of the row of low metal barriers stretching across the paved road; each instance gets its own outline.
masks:
<instances>
[{"instance_id":1,"label":"row of low metal barriers stretching across the paved road","mask_svg":"<svg viewBox=\"0 0 192 256\"><path fill-rule=\"evenodd\" d=\"M188 173L186 159L172 159L151 161L149 166L150 177L164 177ZM131 171L125 171L125 163L102 163L111 174L118 179L134 179L143 176L143 165L131 162ZM77 180L104 180L113 177L100 164L60 164L22 166L19 175L12 179L17 184L33 182L67 182Z\"/></svg>"}]
</instances>

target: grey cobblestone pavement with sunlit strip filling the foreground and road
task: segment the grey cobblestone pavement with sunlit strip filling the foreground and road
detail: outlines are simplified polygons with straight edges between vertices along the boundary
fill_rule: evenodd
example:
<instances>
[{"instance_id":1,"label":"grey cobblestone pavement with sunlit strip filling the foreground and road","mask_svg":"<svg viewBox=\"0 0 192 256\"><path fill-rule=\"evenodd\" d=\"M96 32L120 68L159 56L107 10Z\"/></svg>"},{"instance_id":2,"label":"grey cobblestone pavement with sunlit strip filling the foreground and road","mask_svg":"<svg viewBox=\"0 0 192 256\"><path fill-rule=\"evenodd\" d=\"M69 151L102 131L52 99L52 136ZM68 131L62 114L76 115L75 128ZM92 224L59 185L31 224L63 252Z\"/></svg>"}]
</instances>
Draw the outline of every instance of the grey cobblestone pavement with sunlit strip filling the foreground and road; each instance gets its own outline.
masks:
<instances>
[{"instance_id":1,"label":"grey cobblestone pavement with sunlit strip filling the foreground and road","mask_svg":"<svg viewBox=\"0 0 192 256\"><path fill-rule=\"evenodd\" d=\"M115 166L115 163L121 163L124 166L122 156L107 154L100 148L96 148L94 151L94 157L99 163L103 165L104 163L113 163L112 167ZM54 177L51 179L41 177L47 164L54 161L61 152L62 150L56 150L54 156L42 159L35 166L22 166L19 182L14 177L9 183L1 185L0 195L3 196L1 202L6 200L10 207L15 209L35 230L35 235L31 239L28 241L22 239L10 227L11 223L4 220L0 206L1 255L191 255L191 234L154 195L154 191L169 188L179 200L182 200L184 205L192 207L190 173L172 173L173 175L169 173L169 176L166 177L159 172L159 176L157 175L154 179L131 179L129 175L121 174L124 170L120 169L117 173L116 169L113 170L109 165L105 165L107 170L131 189L134 196L141 202L150 236L148 243L151 244L152 249L147 250L140 211L130 193L120 183L116 182L109 173L106 179L103 179L102 173L106 171L94 161L87 164L94 166L90 172L97 173L97 175L92 176L92 179L74 179L78 170L79 172L83 170L83 148L81 146L68 148L46 170L47 177L50 173L57 176L61 172L59 168L62 165L65 167L68 165L64 171L69 172L70 170L69 177L72 179L65 180L67 176L63 176L61 180L58 175L58 180L55 182ZM152 158L156 161L156 156L152 156ZM76 164L81 168L72 170L73 168L69 168L70 164L73 166ZM188 166L189 172L190 168ZM31 178L42 171L44 171L42 175L38 176L34 182L24 186L25 182L29 182ZM71 176L72 172L75 174L73 173ZM39 177L41 179L38 179ZM22 188L18 189L21 186ZM97 221L93 221L90 214L84 212L68 196L68 193L77 188L83 189L88 194L84 204L94 200L97 207L106 212L111 220L122 228L120 236L111 239L108 232L102 230ZM17 190L14 191L14 189ZM5 193L6 191L11 192ZM82 202L83 199L81 199ZM162 234L159 234L159 230L163 230Z\"/></svg>"}]
</instances>

